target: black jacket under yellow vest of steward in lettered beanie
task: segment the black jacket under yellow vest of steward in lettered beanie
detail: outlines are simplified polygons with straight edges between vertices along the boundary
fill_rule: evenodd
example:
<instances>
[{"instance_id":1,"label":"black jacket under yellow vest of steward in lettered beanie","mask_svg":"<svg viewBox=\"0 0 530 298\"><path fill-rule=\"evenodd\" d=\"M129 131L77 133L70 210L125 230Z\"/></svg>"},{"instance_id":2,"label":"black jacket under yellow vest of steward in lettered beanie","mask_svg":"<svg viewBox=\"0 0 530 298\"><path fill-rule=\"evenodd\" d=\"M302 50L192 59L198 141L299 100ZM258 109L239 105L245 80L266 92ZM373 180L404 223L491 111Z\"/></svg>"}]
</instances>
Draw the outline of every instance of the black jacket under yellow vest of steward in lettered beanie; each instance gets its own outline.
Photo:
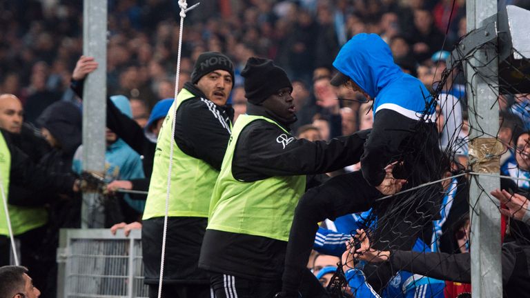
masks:
<instances>
[{"instance_id":1,"label":"black jacket under yellow vest of steward in lettered beanie","mask_svg":"<svg viewBox=\"0 0 530 298\"><path fill-rule=\"evenodd\" d=\"M233 121L233 108L215 104L209 106L206 101L201 100L206 99L206 95L192 83L186 83L184 88L195 97L181 103L177 110L175 142L186 155L202 159L220 170L230 138L230 131L226 127L230 127ZM222 119L217 119L217 113ZM224 124L219 120L224 121ZM207 224L208 219L204 217L169 217L165 281L190 283L190 280L195 280L197 283L209 283L206 272L197 270L197 260ZM142 241L150 243L143 248L148 284L158 283L163 228L164 217L146 219L143 222Z\"/></svg>"}]
</instances>

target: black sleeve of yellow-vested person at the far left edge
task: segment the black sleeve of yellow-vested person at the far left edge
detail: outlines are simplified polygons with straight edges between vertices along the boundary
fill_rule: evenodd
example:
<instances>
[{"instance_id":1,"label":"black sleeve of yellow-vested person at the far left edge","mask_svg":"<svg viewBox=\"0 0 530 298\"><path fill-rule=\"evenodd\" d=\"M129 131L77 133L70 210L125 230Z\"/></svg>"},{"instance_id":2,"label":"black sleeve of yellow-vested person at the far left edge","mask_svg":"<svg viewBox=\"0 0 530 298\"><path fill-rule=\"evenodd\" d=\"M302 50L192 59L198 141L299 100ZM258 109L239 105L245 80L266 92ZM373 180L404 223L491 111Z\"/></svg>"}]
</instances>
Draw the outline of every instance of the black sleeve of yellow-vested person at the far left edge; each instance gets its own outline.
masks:
<instances>
[{"instance_id":1,"label":"black sleeve of yellow-vested person at the far left edge","mask_svg":"<svg viewBox=\"0 0 530 298\"><path fill-rule=\"evenodd\" d=\"M48 172L36 166L31 159L16 146L12 146L3 133L11 154L10 183L26 185L32 190L46 190L61 193L72 192L75 177L70 173Z\"/></svg>"}]
</instances>

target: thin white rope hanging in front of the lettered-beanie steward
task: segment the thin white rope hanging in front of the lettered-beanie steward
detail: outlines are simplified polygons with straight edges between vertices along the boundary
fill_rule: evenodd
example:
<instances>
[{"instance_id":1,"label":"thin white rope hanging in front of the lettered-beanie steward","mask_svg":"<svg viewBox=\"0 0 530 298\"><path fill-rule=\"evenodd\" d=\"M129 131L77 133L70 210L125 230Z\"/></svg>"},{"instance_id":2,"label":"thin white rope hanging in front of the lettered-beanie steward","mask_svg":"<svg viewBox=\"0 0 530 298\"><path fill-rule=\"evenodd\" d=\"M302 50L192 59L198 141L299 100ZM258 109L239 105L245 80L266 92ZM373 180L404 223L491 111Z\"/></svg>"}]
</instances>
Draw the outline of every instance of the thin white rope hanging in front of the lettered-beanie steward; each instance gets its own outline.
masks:
<instances>
[{"instance_id":1,"label":"thin white rope hanging in front of the lettered-beanie steward","mask_svg":"<svg viewBox=\"0 0 530 298\"><path fill-rule=\"evenodd\" d=\"M175 78L175 103L177 102L177 96L179 92L179 77L180 77L180 57L182 50L182 32L184 29L184 18L186 17L186 12L196 8L199 3L188 8L188 3L186 0L179 0L180 7L180 28L179 28L179 50L177 52L177 77ZM160 278L158 281L158 298L161 298L162 295L162 279L164 279L164 261L166 259L166 236L168 232L168 212L169 212L169 195L171 189L171 170L173 169L173 136L175 135L175 119L177 117L177 109L173 109L173 121L171 122L171 142L169 148L169 169L168 169L168 188L166 190L166 213L164 215L164 232L162 234L162 252L160 257Z\"/></svg>"}]
</instances>

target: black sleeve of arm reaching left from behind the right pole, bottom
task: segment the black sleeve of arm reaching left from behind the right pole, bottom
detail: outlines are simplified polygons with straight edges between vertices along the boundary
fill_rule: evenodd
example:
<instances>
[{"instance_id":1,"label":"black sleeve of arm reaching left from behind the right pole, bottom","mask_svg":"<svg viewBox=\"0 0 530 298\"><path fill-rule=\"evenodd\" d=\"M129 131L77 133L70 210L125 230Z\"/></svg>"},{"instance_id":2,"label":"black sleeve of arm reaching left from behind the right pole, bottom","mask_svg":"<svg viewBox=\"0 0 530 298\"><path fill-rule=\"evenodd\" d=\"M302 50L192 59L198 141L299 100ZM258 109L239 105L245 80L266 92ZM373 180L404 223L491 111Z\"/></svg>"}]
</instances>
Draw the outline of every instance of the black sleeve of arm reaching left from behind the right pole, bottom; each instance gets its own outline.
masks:
<instances>
[{"instance_id":1,"label":"black sleeve of arm reaching left from behind the right pole, bottom","mask_svg":"<svg viewBox=\"0 0 530 298\"><path fill-rule=\"evenodd\" d=\"M450 255L444 252L393 250L390 262L394 270L409 271L435 279L471 283L469 252Z\"/></svg>"}]
</instances>

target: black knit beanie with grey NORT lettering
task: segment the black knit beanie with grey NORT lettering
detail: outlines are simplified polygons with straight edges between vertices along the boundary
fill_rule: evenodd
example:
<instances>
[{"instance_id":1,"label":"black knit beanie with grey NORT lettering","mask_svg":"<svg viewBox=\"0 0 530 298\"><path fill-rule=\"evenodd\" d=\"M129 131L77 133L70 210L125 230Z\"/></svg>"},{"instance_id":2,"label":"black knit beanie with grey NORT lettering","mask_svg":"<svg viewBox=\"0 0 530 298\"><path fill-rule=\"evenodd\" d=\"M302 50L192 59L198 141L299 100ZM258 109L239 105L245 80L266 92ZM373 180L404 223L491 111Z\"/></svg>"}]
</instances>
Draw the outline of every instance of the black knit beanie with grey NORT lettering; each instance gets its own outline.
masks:
<instances>
[{"instance_id":1,"label":"black knit beanie with grey NORT lettering","mask_svg":"<svg viewBox=\"0 0 530 298\"><path fill-rule=\"evenodd\" d=\"M193 66L193 72L191 73L191 83L197 83L199 79L214 70L230 72L232 81L234 81L234 64L230 61L230 58L220 52L204 52L195 61L195 66Z\"/></svg>"}]
</instances>

